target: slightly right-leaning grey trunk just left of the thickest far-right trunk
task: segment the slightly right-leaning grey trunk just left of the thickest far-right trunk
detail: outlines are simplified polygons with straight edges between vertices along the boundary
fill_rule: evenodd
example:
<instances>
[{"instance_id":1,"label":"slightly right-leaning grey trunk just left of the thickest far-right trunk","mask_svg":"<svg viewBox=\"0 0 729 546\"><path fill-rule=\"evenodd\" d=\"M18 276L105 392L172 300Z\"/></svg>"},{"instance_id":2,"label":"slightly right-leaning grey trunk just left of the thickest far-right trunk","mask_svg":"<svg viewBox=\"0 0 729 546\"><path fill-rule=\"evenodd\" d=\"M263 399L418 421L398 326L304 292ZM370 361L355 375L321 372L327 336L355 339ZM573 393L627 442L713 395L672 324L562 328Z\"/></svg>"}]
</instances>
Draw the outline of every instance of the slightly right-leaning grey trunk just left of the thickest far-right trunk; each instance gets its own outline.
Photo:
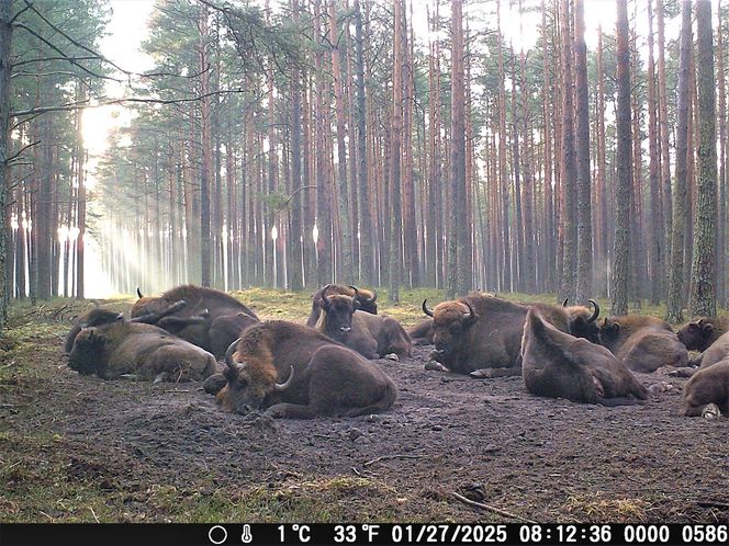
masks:
<instances>
[{"instance_id":1,"label":"slightly right-leaning grey trunk just left of the thickest far-right trunk","mask_svg":"<svg viewBox=\"0 0 729 546\"><path fill-rule=\"evenodd\" d=\"M660 1L660 0L659 0ZM676 184L673 194L671 234L671 270L666 300L666 320L683 321L684 305L684 232L686 230L686 187L688 160L688 68L691 65L691 2L681 4L681 48L678 53L678 104L676 123Z\"/></svg>"}]
</instances>

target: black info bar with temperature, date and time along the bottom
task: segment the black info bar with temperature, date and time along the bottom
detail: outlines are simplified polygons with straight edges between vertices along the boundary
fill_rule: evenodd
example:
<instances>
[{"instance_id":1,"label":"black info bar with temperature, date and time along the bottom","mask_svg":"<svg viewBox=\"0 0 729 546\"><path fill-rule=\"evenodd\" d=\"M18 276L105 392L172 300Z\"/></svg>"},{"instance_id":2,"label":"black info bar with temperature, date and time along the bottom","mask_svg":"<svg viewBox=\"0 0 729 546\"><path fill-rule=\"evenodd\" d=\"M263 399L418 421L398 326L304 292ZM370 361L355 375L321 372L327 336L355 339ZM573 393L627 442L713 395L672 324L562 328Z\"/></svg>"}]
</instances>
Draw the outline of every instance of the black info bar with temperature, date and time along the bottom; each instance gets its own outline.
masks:
<instances>
[{"instance_id":1,"label":"black info bar with temperature, date and time along the bottom","mask_svg":"<svg viewBox=\"0 0 729 546\"><path fill-rule=\"evenodd\" d=\"M2 546L727 544L727 524L0 524Z\"/></svg>"}]
</instances>

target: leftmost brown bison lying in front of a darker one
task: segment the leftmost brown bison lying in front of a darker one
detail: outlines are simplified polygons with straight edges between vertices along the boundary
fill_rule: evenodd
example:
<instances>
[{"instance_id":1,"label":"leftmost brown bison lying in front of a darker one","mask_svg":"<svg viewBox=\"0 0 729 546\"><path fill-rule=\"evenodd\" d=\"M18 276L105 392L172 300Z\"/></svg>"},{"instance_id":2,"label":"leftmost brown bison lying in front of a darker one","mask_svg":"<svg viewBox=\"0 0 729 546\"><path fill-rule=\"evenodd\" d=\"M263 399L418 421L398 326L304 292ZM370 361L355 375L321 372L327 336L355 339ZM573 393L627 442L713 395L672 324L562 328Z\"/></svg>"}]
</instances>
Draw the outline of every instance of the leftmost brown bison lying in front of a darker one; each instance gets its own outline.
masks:
<instances>
[{"instance_id":1,"label":"leftmost brown bison lying in front of a darker one","mask_svg":"<svg viewBox=\"0 0 729 546\"><path fill-rule=\"evenodd\" d=\"M122 317L75 335L68 365L103 379L134 375L139 379L200 380L216 371L215 357L153 325Z\"/></svg>"}]
</instances>

